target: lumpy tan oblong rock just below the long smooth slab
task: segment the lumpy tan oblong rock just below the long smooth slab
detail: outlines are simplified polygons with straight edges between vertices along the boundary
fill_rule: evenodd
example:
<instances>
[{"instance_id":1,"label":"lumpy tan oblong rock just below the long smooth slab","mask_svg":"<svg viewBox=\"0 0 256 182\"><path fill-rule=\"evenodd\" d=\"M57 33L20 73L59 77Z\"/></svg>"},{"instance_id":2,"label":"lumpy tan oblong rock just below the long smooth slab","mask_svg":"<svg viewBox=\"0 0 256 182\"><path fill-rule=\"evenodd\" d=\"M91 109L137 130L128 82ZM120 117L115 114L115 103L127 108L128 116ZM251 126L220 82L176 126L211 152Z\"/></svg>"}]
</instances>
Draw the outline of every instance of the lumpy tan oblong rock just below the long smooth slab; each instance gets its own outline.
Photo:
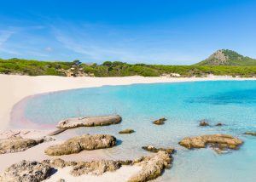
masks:
<instances>
[{"instance_id":1,"label":"lumpy tan oblong rock just below the long smooth slab","mask_svg":"<svg viewBox=\"0 0 256 182\"><path fill-rule=\"evenodd\" d=\"M79 153L84 150L109 148L116 145L116 138L108 134L84 134L67 139L60 145L49 146L44 152L49 156L61 156Z\"/></svg>"}]
</instances>

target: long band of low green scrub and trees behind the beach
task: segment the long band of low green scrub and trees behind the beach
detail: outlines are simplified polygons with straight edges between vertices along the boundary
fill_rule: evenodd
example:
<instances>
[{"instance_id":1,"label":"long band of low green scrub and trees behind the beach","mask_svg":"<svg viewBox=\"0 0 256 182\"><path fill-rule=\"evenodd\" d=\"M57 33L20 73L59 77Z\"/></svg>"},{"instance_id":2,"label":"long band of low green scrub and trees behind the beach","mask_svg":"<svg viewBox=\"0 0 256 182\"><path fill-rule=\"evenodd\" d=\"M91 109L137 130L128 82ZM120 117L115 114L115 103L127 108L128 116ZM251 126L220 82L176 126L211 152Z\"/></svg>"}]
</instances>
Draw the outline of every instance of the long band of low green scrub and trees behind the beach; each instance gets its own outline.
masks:
<instances>
[{"instance_id":1,"label":"long band of low green scrub and trees behind the beach","mask_svg":"<svg viewBox=\"0 0 256 182\"><path fill-rule=\"evenodd\" d=\"M79 60L73 62L47 62L37 60L0 59L0 73L21 75L57 75L95 77L125 77L144 76L159 77L163 74L177 73L181 77L204 77L208 74L229 75L240 77L256 77L256 66L226 66L226 65L145 65L127 64L119 61L106 61L102 65L86 65ZM78 73L76 73L78 72Z\"/></svg>"}]
</instances>

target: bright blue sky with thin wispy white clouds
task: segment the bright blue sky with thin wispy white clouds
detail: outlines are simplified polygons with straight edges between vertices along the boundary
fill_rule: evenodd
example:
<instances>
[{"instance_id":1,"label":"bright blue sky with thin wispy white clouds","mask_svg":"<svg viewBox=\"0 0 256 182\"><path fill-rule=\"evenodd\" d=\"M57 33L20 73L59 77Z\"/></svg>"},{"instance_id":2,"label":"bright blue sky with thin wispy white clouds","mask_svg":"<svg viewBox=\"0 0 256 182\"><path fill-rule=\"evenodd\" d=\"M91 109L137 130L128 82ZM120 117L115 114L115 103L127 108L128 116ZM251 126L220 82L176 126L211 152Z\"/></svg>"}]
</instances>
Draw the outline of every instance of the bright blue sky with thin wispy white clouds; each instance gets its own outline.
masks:
<instances>
[{"instance_id":1,"label":"bright blue sky with thin wispy white clouds","mask_svg":"<svg viewBox=\"0 0 256 182\"><path fill-rule=\"evenodd\" d=\"M256 58L256 0L0 0L0 57L189 65Z\"/></svg>"}]
</instances>

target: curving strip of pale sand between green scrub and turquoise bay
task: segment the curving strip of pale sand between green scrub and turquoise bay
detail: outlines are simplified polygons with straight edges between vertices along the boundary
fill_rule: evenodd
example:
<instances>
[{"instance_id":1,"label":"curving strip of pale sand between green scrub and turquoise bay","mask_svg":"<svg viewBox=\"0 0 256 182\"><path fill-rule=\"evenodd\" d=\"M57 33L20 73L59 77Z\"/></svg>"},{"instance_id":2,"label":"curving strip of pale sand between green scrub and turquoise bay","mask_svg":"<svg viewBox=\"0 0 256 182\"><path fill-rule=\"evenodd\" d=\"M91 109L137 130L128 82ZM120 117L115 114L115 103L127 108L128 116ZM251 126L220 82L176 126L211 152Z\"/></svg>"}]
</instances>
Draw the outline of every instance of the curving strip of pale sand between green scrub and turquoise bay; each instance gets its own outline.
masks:
<instances>
[{"instance_id":1,"label":"curving strip of pale sand between green scrub and turquoise bay","mask_svg":"<svg viewBox=\"0 0 256 182\"><path fill-rule=\"evenodd\" d=\"M15 76L0 74L3 87L0 99L0 132L12 129L11 114L15 106L38 94L50 94L79 88L120 86L148 83L204 82L204 81L256 81L256 78L235 77L58 77L58 76ZM26 86L26 87L24 87ZM27 128L29 129L29 128Z\"/></svg>"}]
</instances>

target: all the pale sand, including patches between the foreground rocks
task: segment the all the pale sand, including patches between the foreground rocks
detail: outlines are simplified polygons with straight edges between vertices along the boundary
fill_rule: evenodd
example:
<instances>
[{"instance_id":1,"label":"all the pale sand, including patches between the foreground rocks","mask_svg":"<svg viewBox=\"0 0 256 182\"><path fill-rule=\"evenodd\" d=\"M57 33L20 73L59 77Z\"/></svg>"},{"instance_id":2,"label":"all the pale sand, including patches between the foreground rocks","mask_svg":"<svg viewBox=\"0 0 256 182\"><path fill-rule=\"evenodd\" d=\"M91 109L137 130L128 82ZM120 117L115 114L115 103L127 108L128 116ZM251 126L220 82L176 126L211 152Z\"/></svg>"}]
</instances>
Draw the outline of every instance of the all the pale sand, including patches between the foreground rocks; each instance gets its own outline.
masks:
<instances>
[{"instance_id":1,"label":"all the pale sand, including patches between the foreground rocks","mask_svg":"<svg viewBox=\"0 0 256 182\"><path fill-rule=\"evenodd\" d=\"M198 81L218 81L218 80L255 80L255 78L233 78L233 77L192 77L192 78L174 78L174 77L53 77L53 76L40 76L40 77L28 77L28 76L12 76L12 75L0 75L0 83L2 85L0 94L0 121L1 128L0 131L2 135L0 138L4 138L10 134L9 121L10 113L12 108L20 100L31 96L34 94L43 94L48 92L55 92L73 88L91 88L91 87L101 87L103 85L127 85L134 83L157 83L157 82L198 82ZM29 130L30 128L27 128ZM6 132L6 133L4 133ZM37 138L49 133L49 131L32 131L30 134L26 134L28 138ZM12 130L11 134L15 134L15 130ZM22 134L20 134L22 136ZM50 157L44 154L44 149L49 145L60 142L60 140L51 141L32 147L31 149L18 153L9 153L0 156L2 172L4 168L9 165L20 162L21 159L26 160L38 160L42 161L44 159L49 159ZM96 160L102 159L101 150L93 151L83 151L81 152L86 155L72 155L72 159L75 161L79 160ZM61 158L70 159L71 156L61 156ZM101 181L102 178L115 179L123 177L125 179L131 176L132 173L136 173L138 168L121 168L119 172L116 173L106 173L104 176L96 178L94 176L84 175L84 178L79 178L78 180L93 180ZM130 175L126 175L127 171L130 171ZM124 174L126 173L126 174ZM65 174L65 175L64 175ZM67 168L58 171L52 176L52 179L48 181L55 181L60 179L61 176L65 176L67 179L72 180L71 175L67 175ZM111 180L110 180L111 181Z\"/></svg>"}]
</instances>

